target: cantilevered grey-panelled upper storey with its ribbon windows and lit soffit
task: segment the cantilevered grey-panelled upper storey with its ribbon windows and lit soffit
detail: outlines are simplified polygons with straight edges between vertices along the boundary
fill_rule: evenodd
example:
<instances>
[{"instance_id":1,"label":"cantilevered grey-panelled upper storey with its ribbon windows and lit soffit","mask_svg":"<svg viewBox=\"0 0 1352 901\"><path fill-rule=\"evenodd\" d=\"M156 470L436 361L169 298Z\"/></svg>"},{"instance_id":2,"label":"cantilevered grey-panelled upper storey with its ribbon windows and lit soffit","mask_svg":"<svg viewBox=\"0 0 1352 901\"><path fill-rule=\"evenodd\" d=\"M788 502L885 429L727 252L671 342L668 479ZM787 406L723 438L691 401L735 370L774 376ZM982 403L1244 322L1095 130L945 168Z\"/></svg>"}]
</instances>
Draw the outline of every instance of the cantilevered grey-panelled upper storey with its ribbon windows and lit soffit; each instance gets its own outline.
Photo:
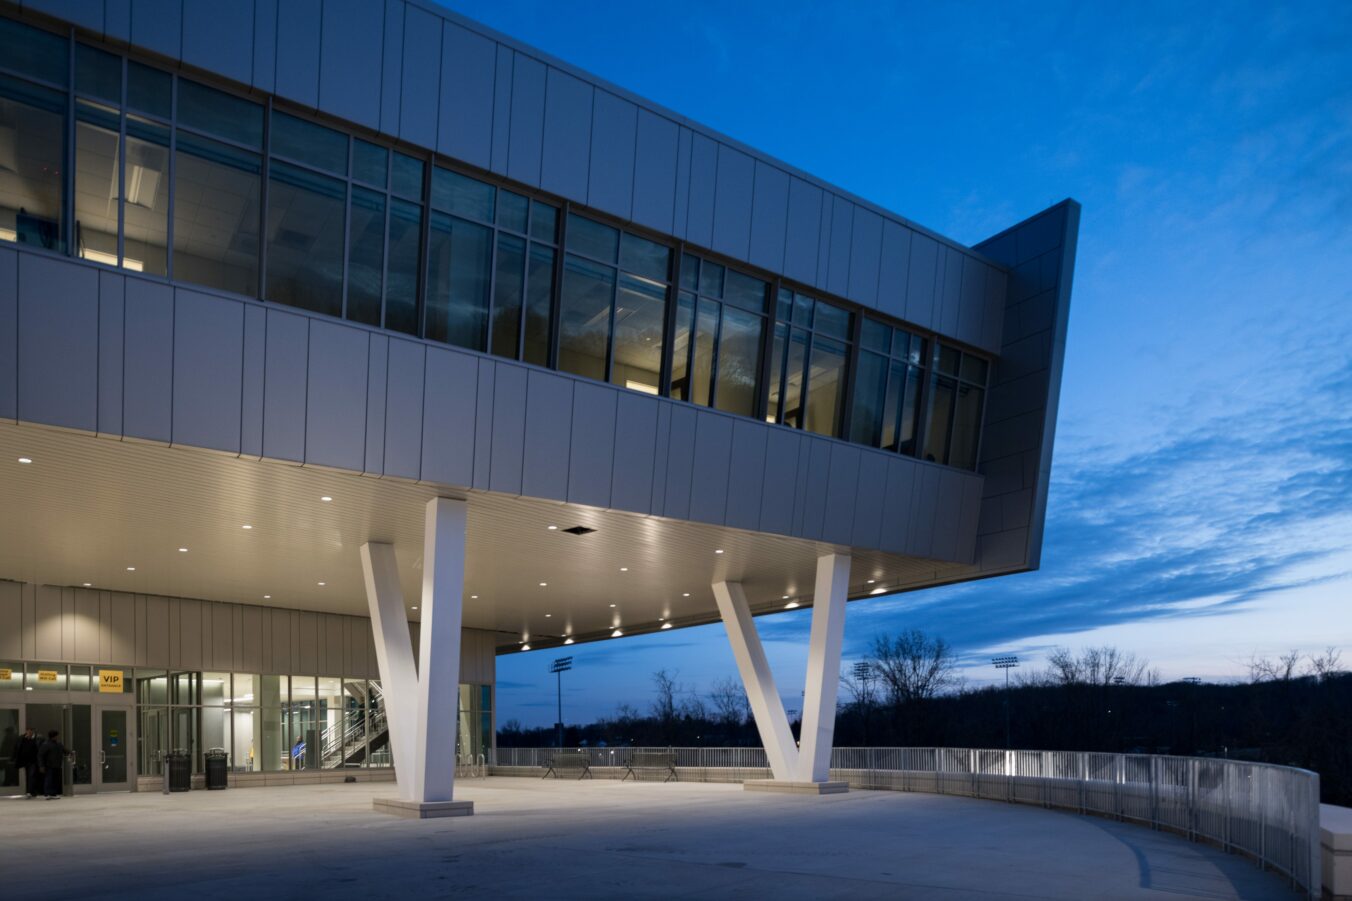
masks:
<instances>
[{"instance_id":1,"label":"cantilevered grey-panelled upper storey with its ribbon windows and lit soffit","mask_svg":"<svg viewBox=\"0 0 1352 901\"><path fill-rule=\"evenodd\" d=\"M274 583L446 491L493 536L485 597L519 598L466 624L512 633L550 625L516 624L549 555L581 603L735 541L761 609L818 545L868 560L856 595L1037 565L1072 202L964 248L416 0L0 3L0 418L379 476ZM72 448L3 488L50 532L7 526L0 576L80 584L39 509L81 472L260 507L322 480ZM588 578L644 542L675 570ZM145 590L260 602L241 564ZM713 616L681 605L645 622Z\"/></svg>"}]
</instances>

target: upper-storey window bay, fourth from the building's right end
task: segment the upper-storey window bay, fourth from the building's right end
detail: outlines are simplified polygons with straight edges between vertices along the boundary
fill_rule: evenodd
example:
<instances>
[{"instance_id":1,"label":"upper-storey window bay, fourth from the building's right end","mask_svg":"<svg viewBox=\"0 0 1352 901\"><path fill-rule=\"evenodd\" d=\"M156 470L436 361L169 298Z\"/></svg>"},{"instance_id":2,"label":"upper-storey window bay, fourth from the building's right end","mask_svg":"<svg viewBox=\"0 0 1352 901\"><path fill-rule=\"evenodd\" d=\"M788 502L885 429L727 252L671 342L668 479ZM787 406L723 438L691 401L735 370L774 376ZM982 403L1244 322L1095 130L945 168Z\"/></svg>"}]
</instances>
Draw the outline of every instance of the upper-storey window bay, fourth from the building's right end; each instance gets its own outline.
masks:
<instances>
[{"instance_id":1,"label":"upper-storey window bay, fourth from the building's right end","mask_svg":"<svg viewBox=\"0 0 1352 901\"><path fill-rule=\"evenodd\" d=\"M672 396L757 415L768 285L685 254L672 337Z\"/></svg>"}]
</instances>

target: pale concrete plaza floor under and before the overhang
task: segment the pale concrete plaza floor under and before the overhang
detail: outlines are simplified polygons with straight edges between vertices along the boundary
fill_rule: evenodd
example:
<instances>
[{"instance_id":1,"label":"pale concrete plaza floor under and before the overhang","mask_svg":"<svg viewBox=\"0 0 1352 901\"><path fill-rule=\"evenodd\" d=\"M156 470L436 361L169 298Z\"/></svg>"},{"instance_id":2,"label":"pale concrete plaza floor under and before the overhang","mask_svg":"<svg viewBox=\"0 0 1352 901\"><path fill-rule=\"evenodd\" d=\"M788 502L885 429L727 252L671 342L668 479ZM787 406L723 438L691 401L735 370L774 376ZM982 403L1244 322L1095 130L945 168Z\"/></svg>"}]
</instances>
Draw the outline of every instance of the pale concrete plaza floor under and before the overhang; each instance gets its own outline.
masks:
<instances>
[{"instance_id":1,"label":"pale concrete plaza floor under and before the overhang","mask_svg":"<svg viewBox=\"0 0 1352 901\"><path fill-rule=\"evenodd\" d=\"M1283 898L1141 827L969 798L466 779L476 813L373 813L385 785L0 801L5 898Z\"/></svg>"}]
</instances>

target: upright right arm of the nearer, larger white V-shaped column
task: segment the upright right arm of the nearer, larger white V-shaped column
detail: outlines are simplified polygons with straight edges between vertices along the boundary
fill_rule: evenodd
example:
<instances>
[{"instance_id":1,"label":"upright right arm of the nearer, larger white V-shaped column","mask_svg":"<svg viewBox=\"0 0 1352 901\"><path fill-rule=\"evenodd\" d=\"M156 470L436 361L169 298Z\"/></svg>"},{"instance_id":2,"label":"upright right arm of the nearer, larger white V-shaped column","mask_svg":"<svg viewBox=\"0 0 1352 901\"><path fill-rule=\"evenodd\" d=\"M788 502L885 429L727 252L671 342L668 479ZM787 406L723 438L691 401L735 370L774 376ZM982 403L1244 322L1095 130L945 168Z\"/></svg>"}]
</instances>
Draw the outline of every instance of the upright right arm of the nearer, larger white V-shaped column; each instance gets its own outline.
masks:
<instances>
[{"instance_id":1,"label":"upright right arm of the nearer, larger white V-shaped column","mask_svg":"<svg viewBox=\"0 0 1352 901\"><path fill-rule=\"evenodd\" d=\"M456 782L460 620L465 588L465 502L434 498L423 525L418 740L410 801L450 801Z\"/></svg>"}]
</instances>

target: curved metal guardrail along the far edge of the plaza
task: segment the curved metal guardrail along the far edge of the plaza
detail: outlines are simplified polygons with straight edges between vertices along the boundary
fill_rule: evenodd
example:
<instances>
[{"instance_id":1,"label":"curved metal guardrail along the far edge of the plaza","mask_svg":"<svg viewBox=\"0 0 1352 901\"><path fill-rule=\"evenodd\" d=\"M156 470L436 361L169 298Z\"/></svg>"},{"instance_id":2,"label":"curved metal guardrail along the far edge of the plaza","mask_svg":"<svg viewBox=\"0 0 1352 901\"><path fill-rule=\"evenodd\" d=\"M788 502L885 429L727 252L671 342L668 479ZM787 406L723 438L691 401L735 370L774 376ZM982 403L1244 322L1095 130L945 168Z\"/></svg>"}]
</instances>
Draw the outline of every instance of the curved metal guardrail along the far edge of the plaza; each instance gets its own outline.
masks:
<instances>
[{"instance_id":1,"label":"curved metal guardrail along the far edge of the plaza","mask_svg":"<svg viewBox=\"0 0 1352 901\"><path fill-rule=\"evenodd\" d=\"M496 748L495 767L539 767L554 748ZM680 778L769 778L764 748L569 748L598 777L638 751L676 755ZM836 748L831 778L854 789L1034 804L1169 829L1244 854L1320 897L1320 777L1267 763L1090 751Z\"/></svg>"}]
</instances>

